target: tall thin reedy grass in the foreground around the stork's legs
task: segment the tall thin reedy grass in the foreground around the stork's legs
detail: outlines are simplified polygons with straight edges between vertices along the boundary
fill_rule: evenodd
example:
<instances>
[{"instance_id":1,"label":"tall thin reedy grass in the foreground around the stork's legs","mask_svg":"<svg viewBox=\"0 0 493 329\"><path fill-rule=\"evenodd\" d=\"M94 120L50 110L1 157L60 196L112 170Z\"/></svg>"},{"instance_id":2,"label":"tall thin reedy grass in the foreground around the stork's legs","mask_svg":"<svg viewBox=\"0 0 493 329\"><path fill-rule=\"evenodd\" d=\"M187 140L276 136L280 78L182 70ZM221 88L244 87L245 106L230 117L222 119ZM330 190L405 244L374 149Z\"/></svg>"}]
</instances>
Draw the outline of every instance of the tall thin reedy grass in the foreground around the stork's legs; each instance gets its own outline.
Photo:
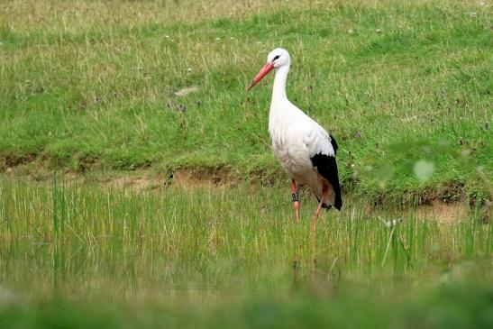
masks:
<instances>
[{"instance_id":1,"label":"tall thin reedy grass in the foreground around the stork's legs","mask_svg":"<svg viewBox=\"0 0 493 329\"><path fill-rule=\"evenodd\" d=\"M439 224L412 209L375 213L350 200L341 213L324 213L313 235L315 201L302 199L295 224L274 187L135 192L3 177L0 196L0 324L491 320L493 233L474 210ZM393 227L381 222L397 217L403 222Z\"/></svg>"}]
</instances>

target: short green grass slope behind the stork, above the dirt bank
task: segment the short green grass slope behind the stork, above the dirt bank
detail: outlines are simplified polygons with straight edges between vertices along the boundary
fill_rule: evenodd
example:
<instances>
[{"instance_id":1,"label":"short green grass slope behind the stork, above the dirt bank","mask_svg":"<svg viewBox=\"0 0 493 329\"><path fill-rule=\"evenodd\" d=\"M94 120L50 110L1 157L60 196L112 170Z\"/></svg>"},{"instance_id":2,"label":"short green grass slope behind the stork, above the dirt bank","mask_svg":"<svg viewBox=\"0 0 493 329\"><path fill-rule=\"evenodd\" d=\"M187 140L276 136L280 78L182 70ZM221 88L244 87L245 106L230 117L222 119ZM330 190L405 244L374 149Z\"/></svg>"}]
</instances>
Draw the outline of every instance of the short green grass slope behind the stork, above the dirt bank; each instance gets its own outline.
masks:
<instances>
[{"instance_id":1,"label":"short green grass slope behind the stork, above the dirt bank","mask_svg":"<svg viewBox=\"0 0 493 329\"><path fill-rule=\"evenodd\" d=\"M262 4L3 3L2 168L284 177L269 150L270 80L244 90L281 46L294 62L288 96L341 145L342 186L377 196L383 177L387 194L485 195L440 148L491 178L489 5ZM434 161L427 183L409 169L420 159Z\"/></svg>"}]
</instances>

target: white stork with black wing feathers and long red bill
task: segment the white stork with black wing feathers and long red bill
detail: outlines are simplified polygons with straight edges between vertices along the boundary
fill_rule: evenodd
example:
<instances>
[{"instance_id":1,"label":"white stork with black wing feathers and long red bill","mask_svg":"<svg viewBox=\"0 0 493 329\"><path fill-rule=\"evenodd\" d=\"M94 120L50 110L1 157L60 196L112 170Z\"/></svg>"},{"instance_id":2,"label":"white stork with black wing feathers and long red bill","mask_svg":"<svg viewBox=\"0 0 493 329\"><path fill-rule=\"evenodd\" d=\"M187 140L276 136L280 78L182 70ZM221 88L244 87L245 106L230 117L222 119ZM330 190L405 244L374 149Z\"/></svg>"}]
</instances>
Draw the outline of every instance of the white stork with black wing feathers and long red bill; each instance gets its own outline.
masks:
<instances>
[{"instance_id":1,"label":"white stork with black wing feathers and long red bill","mask_svg":"<svg viewBox=\"0 0 493 329\"><path fill-rule=\"evenodd\" d=\"M253 78L250 90L257 85L272 69L275 69L274 87L269 111L269 134L272 150L282 168L291 178L291 192L295 207L296 220L299 222L298 184L311 187L318 200L318 206L312 221L315 231L316 220L322 208L335 207L341 210L342 196L335 154L337 142L320 124L303 113L286 96L291 59L287 50L272 50L267 64Z\"/></svg>"}]
</instances>

